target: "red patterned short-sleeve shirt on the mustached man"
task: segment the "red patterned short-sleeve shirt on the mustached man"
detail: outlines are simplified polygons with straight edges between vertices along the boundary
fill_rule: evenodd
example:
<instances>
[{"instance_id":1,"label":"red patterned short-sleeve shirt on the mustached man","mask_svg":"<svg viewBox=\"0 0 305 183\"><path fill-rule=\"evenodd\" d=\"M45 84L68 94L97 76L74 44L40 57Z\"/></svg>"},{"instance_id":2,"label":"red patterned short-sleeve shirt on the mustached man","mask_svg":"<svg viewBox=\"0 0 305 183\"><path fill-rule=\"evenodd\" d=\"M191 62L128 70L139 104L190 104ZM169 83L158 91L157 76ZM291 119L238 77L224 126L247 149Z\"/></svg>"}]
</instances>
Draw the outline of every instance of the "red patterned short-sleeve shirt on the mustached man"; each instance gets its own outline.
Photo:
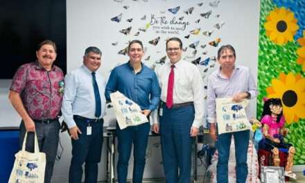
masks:
<instances>
[{"instance_id":1,"label":"red patterned short-sleeve shirt on the mustached man","mask_svg":"<svg viewBox=\"0 0 305 183\"><path fill-rule=\"evenodd\" d=\"M64 75L59 67L46 71L39 62L23 64L12 79L10 90L20 94L22 103L32 119L55 119L62 103Z\"/></svg>"}]
</instances>

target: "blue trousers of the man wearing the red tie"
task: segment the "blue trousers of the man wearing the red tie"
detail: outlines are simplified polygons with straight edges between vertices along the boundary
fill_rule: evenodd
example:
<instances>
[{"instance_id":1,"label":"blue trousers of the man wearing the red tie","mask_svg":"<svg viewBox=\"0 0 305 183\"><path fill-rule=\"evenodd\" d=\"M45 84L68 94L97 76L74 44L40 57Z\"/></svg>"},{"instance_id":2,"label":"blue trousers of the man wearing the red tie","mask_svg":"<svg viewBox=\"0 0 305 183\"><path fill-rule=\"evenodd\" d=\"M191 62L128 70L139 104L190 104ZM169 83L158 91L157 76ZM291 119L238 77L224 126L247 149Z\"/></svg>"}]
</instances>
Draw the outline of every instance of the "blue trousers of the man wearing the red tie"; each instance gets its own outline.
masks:
<instances>
[{"instance_id":1,"label":"blue trousers of the man wearing the red tie","mask_svg":"<svg viewBox=\"0 0 305 183\"><path fill-rule=\"evenodd\" d=\"M191 176L191 126L193 105L168 110L162 105L159 116L162 161L167 183L189 183Z\"/></svg>"}]
</instances>

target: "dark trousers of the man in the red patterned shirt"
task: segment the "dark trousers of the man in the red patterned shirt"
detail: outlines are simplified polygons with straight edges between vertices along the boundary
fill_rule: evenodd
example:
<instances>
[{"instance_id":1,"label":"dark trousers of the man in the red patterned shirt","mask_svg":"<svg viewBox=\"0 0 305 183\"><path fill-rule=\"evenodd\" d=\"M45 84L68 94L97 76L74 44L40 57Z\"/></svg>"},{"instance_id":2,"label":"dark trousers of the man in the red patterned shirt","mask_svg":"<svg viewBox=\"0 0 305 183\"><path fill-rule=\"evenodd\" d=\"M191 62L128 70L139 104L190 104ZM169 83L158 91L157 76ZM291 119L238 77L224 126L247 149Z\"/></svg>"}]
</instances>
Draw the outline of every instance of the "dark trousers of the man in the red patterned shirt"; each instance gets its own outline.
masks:
<instances>
[{"instance_id":1,"label":"dark trousers of the man in the red patterned shirt","mask_svg":"<svg viewBox=\"0 0 305 183\"><path fill-rule=\"evenodd\" d=\"M58 141L60 134L60 122L53 121L49 124L35 123L35 130L38 139L38 145L40 146L40 152L46 153L46 170L44 172L44 182L51 182L53 175L53 166L55 164L55 158L58 150ZM20 148L24 143L24 136L26 134L26 127L24 121L20 123ZM34 153L34 133L28 132L26 139L26 150L30 153Z\"/></svg>"}]
</instances>

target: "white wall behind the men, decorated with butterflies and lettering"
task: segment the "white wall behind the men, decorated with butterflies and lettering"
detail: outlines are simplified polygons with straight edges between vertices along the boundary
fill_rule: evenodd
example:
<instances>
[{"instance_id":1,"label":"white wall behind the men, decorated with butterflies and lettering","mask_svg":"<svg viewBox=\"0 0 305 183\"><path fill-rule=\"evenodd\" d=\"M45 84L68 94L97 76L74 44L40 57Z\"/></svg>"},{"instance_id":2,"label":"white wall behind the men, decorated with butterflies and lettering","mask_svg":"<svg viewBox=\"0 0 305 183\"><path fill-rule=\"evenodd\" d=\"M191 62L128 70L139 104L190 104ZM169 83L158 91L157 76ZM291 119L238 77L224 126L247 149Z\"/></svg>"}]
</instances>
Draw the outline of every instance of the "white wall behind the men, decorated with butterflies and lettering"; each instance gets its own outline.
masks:
<instances>
[{"instance_id":1,"label":"white wall behind the men, decorated with butterflies and lettering","mask_svg":"<svg viewBox=\"0 0 305 183\"><path fill-rule=\"evenodd\" d=\"M116 2L119 1L119 2ZM159 60L164 55L165 41L167 37L180 37L184 43L184 47L188 46L188 49L182 57L191 55L193 49L189 48L189 44L200 40L198 46L198 53L195 58L201 56L202 60L208 57L216 56L218 47L213 47L208 44L213 40L221 38L220 45L232 44L236 49L236 64L243 64L252 69L254 78L257 78L257 65L258 65L258 45L259 45L259 1L253 0L222 0L218 4L218 7L212 8L209 6L210 2L214 0L204 1L183 1L183 0L67 0L67 71L71 71L80 67L82 64L82 55L88 46L98 46L103 52L102 66L98 70L106 79L110 75L110 70L117 64L123 64L128 61L127 56L118 55L118 51L124 49L128 44L128 40L139 39L143 42L143 46L147 47L146 55L143 58L147 58L150 55L150 60L143 61L146 65L152 66L156 60ZM197 3L204 3L201 7ZM126 10L123 6L129 6ZM168 8L175 8L180 6L176 15L173 15L168 11ZM191 15L186 15L183 11L187 8L194 7ZM161 11L165 11L162 13ZM209 19L204 19L200 16L200 13L208 12L212 10ZM110 21L112 17L123 13L121 22ZM146 20L141 20L141 17L146 15ZM176 17L184 17L183 21L189 22L185 30L179 30L178 34L163 34L156 33L156 28L150 26L148 30L143 33L140 31L138 37L134 36L137 33L138 28L145 26L151 20L151 15L155 17L165 17L168 24L155 24L154 26L170 26L171 28L181 28L181 25L170 25L169 21ZM220 15L216 18L215 15ZM132 22L126 21L126 19L133 18ZM200 19L199 24L195 21ZM214 24L225 21L225 25L220 30L214 28ZM119 30L132 26L130 35L123 35L119 33ZM199 35L191 35L189 39L184 36L189 35L189 31L195 28L200 28ZM157 28L161 30L161 28ZM202 35L205 30L214 29L214 33L211 37ZM156 37L161 37L157 46L148 44L150 40ZM112 46L113 42L118 42L116 46ZM202 49L200 45L207 44ZM203 51L207 51L207 55L202 55ZM35 54L35 51L33 51ZM58 53L60 54L60 53ZM189 58L188 61L195 60L195 58ZM166 59L168 62L168 59ZM207 82L207 76L218 67L216 63L215 67L198 66L202 73L204 82ZM207 73L204 73L204 69L208 69ZM11 80L0 80L0 126L17 126L20 123L20 117L8 101L8 90ZM251 102L253 116L256 116L256 101ZM105 117L105 125L107 121L113 116L112 110L107 110L107 116ZM71 142L67 134L60 135L62 146L64 146L64 153L60 162L55 163L55 170L53 180L55 182L67 181L67 175L69 171L69 162L71 159ZM155 149L154 144L158 141L150 141L148 150L151 153L159 152ZM155 153L152 157L160 157L159 153ZM102 163L100 164L99 180L105 180L105 146L103 146ZM162 175L161 165L151 165L154 162L154 158L148 159L146 171L144 177L159 177ZM132 167L131 167L132 168ZM129 171L131 172L131 170ZM200 172L198 172L200 173ZM128 177L130 177L130 174ZM201 173L202 174L202 173Z\"/></svg>"}]
</instances>

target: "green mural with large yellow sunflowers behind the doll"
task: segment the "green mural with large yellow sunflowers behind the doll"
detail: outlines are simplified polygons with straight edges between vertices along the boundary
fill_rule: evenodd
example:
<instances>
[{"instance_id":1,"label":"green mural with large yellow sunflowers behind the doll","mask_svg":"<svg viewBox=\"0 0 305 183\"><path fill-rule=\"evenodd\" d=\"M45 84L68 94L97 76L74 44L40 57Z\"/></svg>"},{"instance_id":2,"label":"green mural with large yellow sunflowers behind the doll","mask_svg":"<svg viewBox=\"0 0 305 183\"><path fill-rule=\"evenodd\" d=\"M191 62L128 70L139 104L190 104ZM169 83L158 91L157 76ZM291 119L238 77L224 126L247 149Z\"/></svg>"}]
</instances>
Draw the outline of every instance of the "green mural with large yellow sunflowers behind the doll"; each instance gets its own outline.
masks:
<instances>
[{"instance_id":1,"label":"green mural with large yellow sunflowers behind the doll","mask_svg":"<svg viewBox=\"0 0 305 183\"><path fill-rule=\"evenodd\" d=\"M281 98L285 141L293 143L293 164L305 164L305 0L261 0L256 115L263 97Z\"/></svg>"}]
</instances>

